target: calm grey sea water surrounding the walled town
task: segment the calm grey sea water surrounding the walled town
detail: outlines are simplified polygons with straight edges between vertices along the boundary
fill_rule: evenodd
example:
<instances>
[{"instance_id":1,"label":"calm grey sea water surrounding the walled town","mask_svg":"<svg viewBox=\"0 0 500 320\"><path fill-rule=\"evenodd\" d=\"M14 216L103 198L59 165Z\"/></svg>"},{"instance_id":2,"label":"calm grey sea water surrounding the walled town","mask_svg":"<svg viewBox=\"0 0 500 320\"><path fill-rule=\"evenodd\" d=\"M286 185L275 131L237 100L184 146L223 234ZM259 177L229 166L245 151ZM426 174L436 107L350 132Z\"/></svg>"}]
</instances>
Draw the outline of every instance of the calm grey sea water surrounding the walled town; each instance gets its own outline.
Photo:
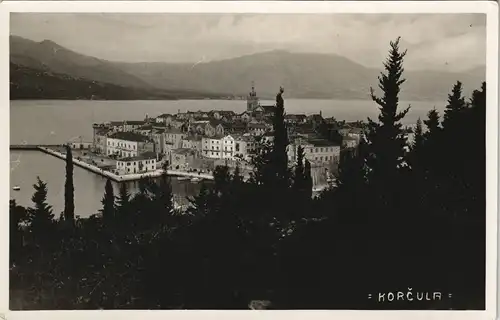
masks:
<instances>
[{"instance_id":1,"label":"calm grey sea water surrounding the walled town","mask_svg":"<svg viewBox=\"0 0 500 320\"><path fill-rule=\"evenodd\" d=\"M273 101L262 101L272 104ZM404 125L414 125L420 117L436 108L442 114L446 101L401 102L401 108L411 105L403 119ZM243 112L246 101L237 100L178 100L178 101L84 101L84 100L15 100L10 103L10 143L61 144L68 141L92 141L92 123L121 120L143 120L163 113L185 111L233 110ZM338 120L357 121L376 119L377 105L369 100L285 100L287 113L334 116ZM18 204L31 206L32 185L39 176L48 185L48 202L56 216L63 210L64 161L37 151L13 151L10 154L10 197ZM100 200L106 180L75 167L75 213L88 217L101 208ZM136 182L129 182L132 190ZM13 191L13 186L21 187ZM114 184L115 191L118 185ZM176 197L183 201L199 191L200 184L173 180ZM185 200L184 200L185 202Z\"/></svg>"}]
</instances>

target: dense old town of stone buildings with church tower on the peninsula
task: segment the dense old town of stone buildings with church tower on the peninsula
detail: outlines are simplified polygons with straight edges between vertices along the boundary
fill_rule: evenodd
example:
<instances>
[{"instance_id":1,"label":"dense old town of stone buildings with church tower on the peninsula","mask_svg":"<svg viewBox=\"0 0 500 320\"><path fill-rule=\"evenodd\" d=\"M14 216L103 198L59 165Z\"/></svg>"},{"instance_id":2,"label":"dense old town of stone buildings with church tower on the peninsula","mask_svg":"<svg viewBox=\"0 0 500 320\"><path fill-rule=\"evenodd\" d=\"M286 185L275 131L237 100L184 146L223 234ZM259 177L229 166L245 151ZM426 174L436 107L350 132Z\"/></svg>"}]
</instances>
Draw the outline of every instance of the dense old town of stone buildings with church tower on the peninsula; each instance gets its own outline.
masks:
<instances>
[{"instance_id":1,"label":"dense old town of stone buildings with church tower on the peninsula","mask_svg":"<svg viewBox=\"0 0 500 320\"><path fill-rule=\"evenodd\" d=\"M118 174L157 170L161 163L172 170L212 170L219 164L248 165L262 144L273 138L275 106L261 105L252 86L247 107L234 111L187 111L162 114L142 121L94 124L93 150L114 158ZM296 160L299 145L314 167L331 169L338 162L341 145L318 136L318 126L329 119L321 113L285 116L290 145L288 157ZM347 147L355 146L360 133L344 132Z\"/></svg>"}]
</instances>

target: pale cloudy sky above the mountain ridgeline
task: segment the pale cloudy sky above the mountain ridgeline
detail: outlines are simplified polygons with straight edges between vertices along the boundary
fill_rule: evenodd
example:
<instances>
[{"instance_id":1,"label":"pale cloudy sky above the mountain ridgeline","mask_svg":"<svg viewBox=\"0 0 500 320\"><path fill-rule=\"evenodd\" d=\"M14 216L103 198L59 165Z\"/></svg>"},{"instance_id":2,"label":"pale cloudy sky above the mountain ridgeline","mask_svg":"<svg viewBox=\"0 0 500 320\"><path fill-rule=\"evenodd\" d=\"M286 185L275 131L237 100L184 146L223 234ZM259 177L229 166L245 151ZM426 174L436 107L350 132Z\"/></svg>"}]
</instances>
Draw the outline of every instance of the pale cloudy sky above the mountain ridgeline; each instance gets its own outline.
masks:
<instances>
[{"instance_id":1,"label":"pale cloudy sky above the mountain ridgeline","mask_svg":"<svg viewBox=\"0 0 500 320\"><path fill-rule=\"evenodd\" d=\"M111 61L205 62L288 50L380 68L401 37L408 70L486 64L484 14L12 13L11 34Z\"/></svg>"}]
</instances>

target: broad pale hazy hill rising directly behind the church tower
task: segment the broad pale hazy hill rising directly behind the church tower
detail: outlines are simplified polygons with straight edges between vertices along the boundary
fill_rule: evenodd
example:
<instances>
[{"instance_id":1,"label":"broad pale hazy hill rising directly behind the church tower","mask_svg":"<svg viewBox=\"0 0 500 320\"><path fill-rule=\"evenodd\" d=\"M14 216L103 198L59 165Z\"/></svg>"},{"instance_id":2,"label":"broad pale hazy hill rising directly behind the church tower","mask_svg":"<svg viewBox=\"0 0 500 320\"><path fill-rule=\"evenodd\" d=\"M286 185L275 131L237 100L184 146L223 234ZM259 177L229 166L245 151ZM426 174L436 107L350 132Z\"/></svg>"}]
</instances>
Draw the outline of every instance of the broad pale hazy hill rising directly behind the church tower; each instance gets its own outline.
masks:
<instances>
[{"instance_id":1,"label":"broad pale hazy hill rising directly behind the church tower","mask_svg":"<svg viewBox=\"0 0 500 320\"><path fill-rule=\"evenodd\" d=\"M203 88L209 92L245 95L251 81L258 94L274 97L280 85L293 98L369 99L370 87L378 89L381 70L366 68L333 54L270 51L199 64L115 63L159 88ZM381 61L382 66L382 61ZM382 68L381 68L382 69ZM481 72L482 69L482 72ZM481 86L485 68L470 73L405 71L404 100L443 100L460 80L466 93ZM217 81L213 81L217 79Z\"/></svg>"}]
</instances>

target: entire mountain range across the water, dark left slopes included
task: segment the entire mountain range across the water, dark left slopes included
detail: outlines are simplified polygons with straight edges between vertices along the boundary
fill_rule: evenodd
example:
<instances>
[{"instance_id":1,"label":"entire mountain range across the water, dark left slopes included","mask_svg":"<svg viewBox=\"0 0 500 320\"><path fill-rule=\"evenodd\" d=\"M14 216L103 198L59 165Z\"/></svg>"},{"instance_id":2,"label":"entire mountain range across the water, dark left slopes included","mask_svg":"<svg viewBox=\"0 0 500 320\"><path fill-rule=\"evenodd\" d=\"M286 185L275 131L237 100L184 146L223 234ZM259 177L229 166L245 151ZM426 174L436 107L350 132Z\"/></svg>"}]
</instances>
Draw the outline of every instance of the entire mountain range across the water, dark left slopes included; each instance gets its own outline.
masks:
<instances>
[{"instance_id":1,"label":"entire mountain range across the water, dark left slopes included","mask_svg":"<svg viewBox=\"0 0 500 320\"><path fill-rule=\"evenodd\" d=\"M16 88L23 87L23 92L29 92L32 82L37 83L35 91L44 92L43 84L49 85L48 79L55 77L59 88L52 93L55 96L64 92L65 86L90 81L100 88L113 88L110 90L114 94L107 97L100 93L98 99L120 99L120 91L134 93L123 99L222 98L245 96L254 81L258 95L264 99L273 98L280 86L289 98L369 99L370 87L378 87L377 77L382 71L339 55L283 50L200 63L113 62L74 52L50 40L35 42L17 36L10 37L10 63L14 98L25 94L13 95L12 90L18 92ZM23 80L37 77L40 72L44 81ZM407 81L401 99L436 101L446 99L456 81L463 83L469 95L485 80L486 68L461 73L408 70L404 77Z\"/></svg>"}]
</instances>

